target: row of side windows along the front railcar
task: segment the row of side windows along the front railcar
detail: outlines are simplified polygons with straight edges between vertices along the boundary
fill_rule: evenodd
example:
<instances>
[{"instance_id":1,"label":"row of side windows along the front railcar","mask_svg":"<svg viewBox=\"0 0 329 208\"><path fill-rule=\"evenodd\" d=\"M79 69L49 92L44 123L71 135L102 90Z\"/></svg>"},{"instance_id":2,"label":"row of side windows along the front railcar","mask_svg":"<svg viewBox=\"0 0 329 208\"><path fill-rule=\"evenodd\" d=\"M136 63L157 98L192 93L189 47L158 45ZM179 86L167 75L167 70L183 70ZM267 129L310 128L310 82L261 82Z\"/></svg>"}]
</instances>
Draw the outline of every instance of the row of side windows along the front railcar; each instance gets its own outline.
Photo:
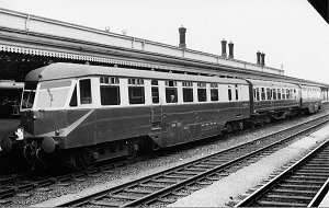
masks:
<instances>
[{"instance_id":1,"label":"row of side windows along the front railcar","mask_svg":"<svg viewBox=\"0 0 329 208\"><path fill-rule=\"evenodd\" d=\"M211 97L212 102L219 101L218 95L218 84L211 83ZM91 80L80 80L80 102L81 104L91 104ZM239 100L238 85L235 84L235 97L232 97L232 90L228 85L227 97L228 101ZM166 102L167 103L178 103L178 82L173 80L164 81L166 91ZM102 105L120 105L121 104L121 92L120 92L120 79L115 77L101 77L100 78L100 93L101 93L101 104ZM207 90L205 82L197 82L197 102L207 101ZM160 102L159 97L159 83L158 80L151 80L151 95L152 103L158 104ZM190 103L194 101L193 94L193 82L183 81L182 82L182 100L184 103ZM138 78L128 79L128 102L129 104L144 104L145 103L145 88L144 80ZM77 106L77 86L73 91L72 99L70 101L70 106Z\"/></svg>"}]
</instances>

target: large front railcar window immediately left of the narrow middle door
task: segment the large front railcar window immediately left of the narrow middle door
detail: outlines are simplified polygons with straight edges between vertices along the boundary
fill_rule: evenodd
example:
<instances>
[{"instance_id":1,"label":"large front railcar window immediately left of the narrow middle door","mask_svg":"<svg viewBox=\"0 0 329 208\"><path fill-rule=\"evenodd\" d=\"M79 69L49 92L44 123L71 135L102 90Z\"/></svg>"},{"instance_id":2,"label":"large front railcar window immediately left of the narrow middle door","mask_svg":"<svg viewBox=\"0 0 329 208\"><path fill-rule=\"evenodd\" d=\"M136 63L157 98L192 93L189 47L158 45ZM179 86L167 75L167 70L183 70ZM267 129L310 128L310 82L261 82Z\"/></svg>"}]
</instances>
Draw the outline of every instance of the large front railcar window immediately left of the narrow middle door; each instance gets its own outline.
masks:
<instances>
[{"instance_id":1,"label":"large front railcar window immediately left of the narrow middle door","mask_svg":"<svg viewBox=\"0 0 329 208\"><path fill-rule=\"evenodd\" d=\"M144 104L144 80L137 78L128 79L129 104Z\"/></svg>"}]
</instances>

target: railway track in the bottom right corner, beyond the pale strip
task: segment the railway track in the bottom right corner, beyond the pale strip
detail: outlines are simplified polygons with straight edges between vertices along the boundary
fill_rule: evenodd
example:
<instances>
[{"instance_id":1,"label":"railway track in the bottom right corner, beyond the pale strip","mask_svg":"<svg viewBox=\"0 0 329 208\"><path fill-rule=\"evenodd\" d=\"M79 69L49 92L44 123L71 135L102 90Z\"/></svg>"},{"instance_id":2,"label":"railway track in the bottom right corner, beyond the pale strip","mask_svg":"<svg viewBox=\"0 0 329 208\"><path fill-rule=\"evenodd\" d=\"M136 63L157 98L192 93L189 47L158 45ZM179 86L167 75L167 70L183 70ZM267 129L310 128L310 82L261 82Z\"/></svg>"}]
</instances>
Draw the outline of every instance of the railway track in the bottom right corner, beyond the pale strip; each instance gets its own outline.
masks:
<instances>
[{"instance_id":1,"label":"railway track in the bottom right corner, beyond the pale strip","mask_svg":"<svg viewBox=\"0 0 329 208\"><path fill-rule=\"evenodd\" d=\"M317 207L329 189L329 140L236 207Z\"/></svg>"}]
</instances>

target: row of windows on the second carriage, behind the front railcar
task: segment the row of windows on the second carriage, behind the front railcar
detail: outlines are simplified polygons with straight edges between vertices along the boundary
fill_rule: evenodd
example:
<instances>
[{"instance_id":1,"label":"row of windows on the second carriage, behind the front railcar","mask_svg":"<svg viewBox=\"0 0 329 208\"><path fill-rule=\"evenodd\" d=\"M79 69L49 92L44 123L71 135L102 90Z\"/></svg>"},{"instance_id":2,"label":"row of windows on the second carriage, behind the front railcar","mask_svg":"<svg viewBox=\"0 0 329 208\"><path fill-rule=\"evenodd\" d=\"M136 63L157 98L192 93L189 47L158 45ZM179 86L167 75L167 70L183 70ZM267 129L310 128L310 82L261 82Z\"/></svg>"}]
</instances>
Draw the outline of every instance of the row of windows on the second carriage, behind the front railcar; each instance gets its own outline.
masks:
<instances>
[{"instance_id":1,"label":"row of windows on the second carriage, behind the front railcar","mask_svg":"<svg viewBox=\"0 0 329 208\"><path fill-rule=\"evenodd\" d=\"M254 101L297 99L296 89L254 88Z\"/></svg>"}]
</instances>

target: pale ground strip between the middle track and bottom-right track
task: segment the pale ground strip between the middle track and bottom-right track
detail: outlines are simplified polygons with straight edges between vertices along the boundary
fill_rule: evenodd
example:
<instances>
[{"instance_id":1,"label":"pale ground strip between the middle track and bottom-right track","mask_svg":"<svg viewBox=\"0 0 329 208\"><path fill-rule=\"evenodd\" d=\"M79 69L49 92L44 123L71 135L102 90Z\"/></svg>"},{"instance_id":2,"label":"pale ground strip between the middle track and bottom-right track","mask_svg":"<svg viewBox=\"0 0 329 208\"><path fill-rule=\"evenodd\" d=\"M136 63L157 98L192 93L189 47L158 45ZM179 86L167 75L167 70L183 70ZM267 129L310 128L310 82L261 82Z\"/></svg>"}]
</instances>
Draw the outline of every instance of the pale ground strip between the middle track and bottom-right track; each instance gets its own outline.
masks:
<instances>
[{"instance_id":1,"label":"pale ground strip between the middle track and bottom-right track","mask_svg":"<svg viewBox=\"0 0 329 208\"><path fill-rule=\"evenodd\" d=\"M273 172L281 169L282 165L290 161L296 160L302 152L318 146L329 139L329 125L313 132L291 146L268 155L256 163L252 163L227 177L214 183L213 185L200 189L188 197L180 198L168 207L227 207L237 203L243 193L254 188L262 181L268 178ZM284 157L283 157L284 155ZM321 207L329 207L329 196L325 197Z\"/></svg>"}]
</instances>

